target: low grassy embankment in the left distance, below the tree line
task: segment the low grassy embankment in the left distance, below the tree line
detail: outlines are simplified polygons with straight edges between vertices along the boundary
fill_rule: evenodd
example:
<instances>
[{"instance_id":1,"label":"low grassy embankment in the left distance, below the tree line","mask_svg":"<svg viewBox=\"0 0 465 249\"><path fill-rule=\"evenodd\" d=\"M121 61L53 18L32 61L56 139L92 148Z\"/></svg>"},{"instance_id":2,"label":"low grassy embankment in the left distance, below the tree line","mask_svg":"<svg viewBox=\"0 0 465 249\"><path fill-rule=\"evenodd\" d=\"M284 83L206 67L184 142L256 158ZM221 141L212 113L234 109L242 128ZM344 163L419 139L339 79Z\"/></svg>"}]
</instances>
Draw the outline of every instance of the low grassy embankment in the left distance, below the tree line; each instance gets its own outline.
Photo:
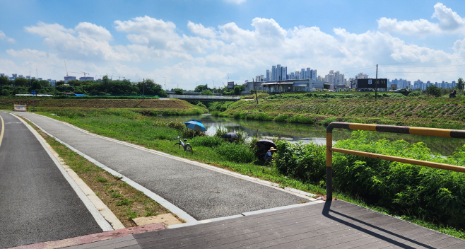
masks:
<instances>
[{"instance_id":1,"label":"low grassy embankment in the left distance, below the tree line","mask_svg":"<svg viewBox=\"0 0 465 249\"><path fill-rule=\"evenodd\" d=\"M35 98L32 97L0 97L0 110L12 110L13 105L29 105L31 109L43 112L55 110L132 110L144 115L196 115L208 110L191 105L184 100L160 100L157 98L126 99L126 98Z\"/></svg>"}]
</instances>

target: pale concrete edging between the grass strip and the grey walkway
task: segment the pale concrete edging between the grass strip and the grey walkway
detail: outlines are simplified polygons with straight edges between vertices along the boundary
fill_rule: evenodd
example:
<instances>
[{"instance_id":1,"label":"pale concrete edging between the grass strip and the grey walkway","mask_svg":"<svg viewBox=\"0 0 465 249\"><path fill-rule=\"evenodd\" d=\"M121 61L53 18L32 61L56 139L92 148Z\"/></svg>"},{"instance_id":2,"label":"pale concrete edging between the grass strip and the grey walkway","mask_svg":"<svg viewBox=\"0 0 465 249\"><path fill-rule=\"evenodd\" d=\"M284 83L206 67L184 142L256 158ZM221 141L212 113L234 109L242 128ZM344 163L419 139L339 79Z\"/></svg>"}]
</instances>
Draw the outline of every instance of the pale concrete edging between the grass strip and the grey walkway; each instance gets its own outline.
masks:
<instances>
[{"instance_id":1,"label":"pale concrete edging between the grass strip and the grey walkway","mask_svg":"<svg viewBox=\"0 0 465 249\"><path fill-rule=\"evenodd\" d=\"M43 116L45 117L45 116ZM121 173L115 171L115 170L112 170L111 168L108 168L107 166L105 166L104 164L100 163L99 161L95 160L94 158L91 158L90 156L86 155L86 154L83 154L81 151L78 151L77 149L75 149L73 146L69 145L69 144L66 144L64 141L61 141L60 139L58 139L57 137L54 137L52 134L49 134L49 132L46 132L44 129L42 129L42 127L40 127L39 125L35 124L35 122L32 122L31 120L29 120L28 118L24 117L26 120L28 120L29 122L33 123L36 127L38 127L40 130L42 130L42 132L44 132L45 134L49 135L49 137L53 137L54 139L56 139L59 143L63 144L64 146L68 147L69 149L71 149L72 151L76 152L77 154L83 156L84 158L86 158L88 161L94 163L96 166L99 166L100 168L102 168L103 170L107 171L108 173L114 175L114 176L117 176L117 177L121 177L122 181L126 182L127 184L131 185L131 187L134 187L136 190L139 190L141 192L143 192L145 195L147 195L148 197L150 197L151 199L155 200L155 202L158 202L158 204L162 205L163 207L165 207L166 209L170 210L170 212L172 212L173 214L176 214L180 219L183 219L184 221L186 222L193 222L193 223L198 223L198 221L196 219L194 219L194 217L190 216L189 214L187 214L187 212L184 212L184 210L180 209L179 207L176 207L174 204L172 204L171 202L168 202L166 199L164 199L163 197L160 197L159 195L155 194L154 192L151 192L151 190L148 190L146 187L143 187L142 185L139 185L139 183L136 183L134 182L133 180L129 179L129 178L126 178L126 176L122 175ZM54 119L52 119L54 120ZM58 121L58 120L56 120ZM65 123L66 124L66 123ZM32 129L32 128L31 128ZM89 133L90 132L86 132L86 133ZM99 213L100 214L100 213Z\"/></svg>"}]
</instances>

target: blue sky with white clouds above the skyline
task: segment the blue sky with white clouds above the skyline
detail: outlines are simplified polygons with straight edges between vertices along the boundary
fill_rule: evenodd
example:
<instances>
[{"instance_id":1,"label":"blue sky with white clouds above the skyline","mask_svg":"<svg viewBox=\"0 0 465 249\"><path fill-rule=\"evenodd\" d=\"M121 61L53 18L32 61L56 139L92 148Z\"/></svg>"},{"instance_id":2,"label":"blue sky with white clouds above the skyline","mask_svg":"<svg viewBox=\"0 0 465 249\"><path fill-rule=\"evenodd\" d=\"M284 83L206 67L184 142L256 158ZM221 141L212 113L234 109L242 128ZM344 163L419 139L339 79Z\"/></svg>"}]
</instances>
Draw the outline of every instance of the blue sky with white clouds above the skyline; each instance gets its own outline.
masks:
<instances>
[{"instance_id":1,"label":"blue sky with white clouds above the skyline","mask_svg":"<svg viewBox=\"0 0 465 249\"><path fill-rule=\"evenodd\" d=\"M0 0L0 73L166 88L242 84L272 65L346 79L465 76L465 1ZM66 67L65 67L66 62ZM123 78L124 77L124 78Z\"/></svg>"}]
</instances>

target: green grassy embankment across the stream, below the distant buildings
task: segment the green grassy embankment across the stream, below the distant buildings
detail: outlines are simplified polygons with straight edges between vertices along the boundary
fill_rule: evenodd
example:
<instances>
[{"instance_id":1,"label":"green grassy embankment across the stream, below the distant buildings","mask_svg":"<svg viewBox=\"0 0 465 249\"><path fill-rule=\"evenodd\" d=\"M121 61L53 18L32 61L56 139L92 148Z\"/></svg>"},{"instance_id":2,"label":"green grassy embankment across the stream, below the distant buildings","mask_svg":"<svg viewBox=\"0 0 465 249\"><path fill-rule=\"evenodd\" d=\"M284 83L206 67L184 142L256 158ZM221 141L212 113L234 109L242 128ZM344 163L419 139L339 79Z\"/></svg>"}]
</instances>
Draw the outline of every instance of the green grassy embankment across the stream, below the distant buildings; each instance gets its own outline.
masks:
<instances>
[{"instance_id":1,"label":"green grassy embankment across the stream, below the distant buildings","mask_svg":"<svg viewBox=\"0 0 465 249\"><path fill-rule=\"evenodd\" d=\"M286 93L281 99L279 95L262 95L258 105L254 100L240 100L229 103L223 110L213 110L212 115L323 125L339 121L464 128L464 96L405 97L398 93L382 93L381 98L375 100L373 95L373 93Z\"/></svg>"}]
</instances>

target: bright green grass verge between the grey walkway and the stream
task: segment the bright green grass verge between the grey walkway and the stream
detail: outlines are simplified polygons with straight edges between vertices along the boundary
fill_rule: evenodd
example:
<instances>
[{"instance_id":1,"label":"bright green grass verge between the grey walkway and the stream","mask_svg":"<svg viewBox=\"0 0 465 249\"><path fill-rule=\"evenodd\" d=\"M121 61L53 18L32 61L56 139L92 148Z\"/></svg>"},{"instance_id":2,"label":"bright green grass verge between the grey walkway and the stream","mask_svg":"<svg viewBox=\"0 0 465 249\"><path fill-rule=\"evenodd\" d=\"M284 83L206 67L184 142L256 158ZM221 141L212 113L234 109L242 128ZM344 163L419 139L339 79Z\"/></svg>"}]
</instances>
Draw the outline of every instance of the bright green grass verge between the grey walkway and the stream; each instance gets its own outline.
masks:
<instances>
[{"instance_id":1,"label":"bright green grass verge between the grey walkway and the stream","mask_svg":"<svg viewBox=\"0 0 465 249\"><path fill-rule=\"evenodd\" d=\"M180 150L179 148L175 148L174 144L176 141L172 140L179 133L186 132L186 129L181 122L163 122L157 120L154 117L143 116L139 113L127 110L112 110L101 112L59 111L53 112L54 115L51 115L50 112L44 114L48 115L49 117L57 118L58 120L70 122L73 125L81 127L83 129L87 129L90 132L94 132L103 136L129 141L133 144L139 144L141 146L146 146L147 148L156 149L158 151L163 151L165 153L172 154L175 156L181 156L194 161L208 163L213 166L218 166L220 168L227 168L229 170L234 170L235 172L242 173L244 175L251 175L264 180L270 180L274 183L278 183L283 187L295 187L299 190L313 192L319 195L325 194L324 181L319 179L321 178L321 175L319 175L318 178L309 180L309 178L302 178L302 175L295 175L294 172L298 171L295 171L292 168L289 171L291 173L286 173L283 172L282 168L278 168L275 166L264 166L263 163L257 161L257 157L254 154L253 142L250 144L229 144L226 143L223 139L219 139L218 137L195 137L194 139L189 139L189 142L192 144L194 148L194 154L190 155ZM280 147L278 146L278 149L279 148ZM405 149L405 147L402 148ZM310 161L316 160L313 158L319 158L319 161L324 161L324 149L317 150L320 150L319 154L313 154L312 151L310 151L310 154L308 154L308 151L305 152L304 150L303 154L301 154L302 160L298 159L301 158L300 156L298 156L297 158L298 161L300 160L300 166L298 166L297 169L304 169L304 172L308 172L308 170L310 170L311 167L317 166L318 168L320 168L320 170L321 168L324 168L324 163L322 163L322 166L320 167L317 165L317 163L306 163L305 161L309 160L309 158ZM395 148L394 152L396 153ZM392 152L392 154L395 155L394 152ZM417 150L416 152L418 153L418 155L421 155L423 153L430 154L428 150ZM407 155L406 157L408 156L409 155ZM346 160L341 156L336 156L335 158L339 158L340 160ZM295 158L293 158L292 160L295 160ZM286 162L290 161L291 159L286 160ZM306 168L307 164L310 168ZM360 170L361 165L359 164L360 163L353 163L353 166L351 167L358 166ZM286 163L286 165L288 165L288 163ZM382 166L385 165L381 163L377 167ZM404 171L408 172L408 167L407 170ZM374 172L376 173L377 170L374 170ZM339 173L338 175L344 174ZM310 175L310 177L314 176ZM370 181L370 179L372 179L366 178L366 175L364 177L365 178L363 178L363 180L368 182ZM376 178L377 176L375 175L374 177ZM420 176L418 176L418 178L420 178ZM351 180L353 182L354 179ZM410 181L408 180L406 180L405 182L410 183ZM336 180L336 183L343 183L343 180L339 180L339 182ZM357 183L355 183L355 185L357 185ZM389 205L387 206L385 203L379 205L379 202L370 201L370 198L365 199L367 196L359 195L360 193L358 191L346 191L343 189L343 185L341 186L342 187L340 187L336 193L338 199L344 199L349 202L360 204L365 207L370 207L371 209L375 209L380 212L399 216L402 219L413 221L416 224L421 224L423 226L435 229L437 231L442 231L452 236L465 238L465 233L461 231L459 228L454 228L456 226L449 227L447 223L442 224L441 222L437 222L437 220L435 222L434 220L428 219L428 216L406 215L406 213L404 212L396 211L395 208L389 208ZM363 186L370 186L370 183L364 183ZM386 200L384 200L384 202L386 202ZM394 207L396 206L394 205Z\"/></svg>"}]
</instances>

